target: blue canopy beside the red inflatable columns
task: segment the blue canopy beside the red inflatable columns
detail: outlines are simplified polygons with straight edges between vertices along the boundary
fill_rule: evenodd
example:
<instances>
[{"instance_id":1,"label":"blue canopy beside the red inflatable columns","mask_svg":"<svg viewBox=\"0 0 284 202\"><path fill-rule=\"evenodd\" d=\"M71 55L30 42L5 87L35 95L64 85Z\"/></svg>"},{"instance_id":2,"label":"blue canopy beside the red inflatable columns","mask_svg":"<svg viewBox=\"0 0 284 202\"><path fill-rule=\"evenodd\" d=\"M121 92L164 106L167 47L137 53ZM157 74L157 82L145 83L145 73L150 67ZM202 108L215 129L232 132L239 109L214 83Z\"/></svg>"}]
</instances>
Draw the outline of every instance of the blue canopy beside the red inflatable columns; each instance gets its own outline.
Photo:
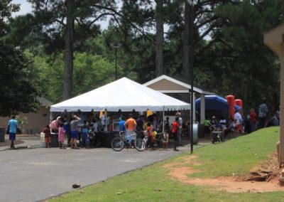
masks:
<instances>
[{"instance_id":1,"label":"blue canopy beside the red inflatable columns","mask_svg":"<svg viewBox=\"0 0 284 202\"><path fill-rule=\"evenodd\" d=\"M235 111L241 110L241 107L235 105ZM200 98L195 100L195 110L197 112L197 117L200 117ZM224 117L228 119L229 117L229 104L223 97L218 95L205 95L205 117L215 116L217 118Z\"/></svg>"}]
</instances>

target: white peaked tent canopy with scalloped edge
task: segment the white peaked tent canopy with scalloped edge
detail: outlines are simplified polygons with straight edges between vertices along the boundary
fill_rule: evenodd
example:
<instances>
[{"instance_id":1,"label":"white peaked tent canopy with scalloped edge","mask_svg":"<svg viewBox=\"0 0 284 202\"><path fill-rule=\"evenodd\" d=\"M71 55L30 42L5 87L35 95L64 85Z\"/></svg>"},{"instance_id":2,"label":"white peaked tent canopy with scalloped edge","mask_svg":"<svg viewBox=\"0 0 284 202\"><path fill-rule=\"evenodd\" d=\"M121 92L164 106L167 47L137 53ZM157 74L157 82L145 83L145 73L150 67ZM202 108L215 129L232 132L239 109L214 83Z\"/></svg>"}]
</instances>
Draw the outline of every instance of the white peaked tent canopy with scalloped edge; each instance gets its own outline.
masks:
<instances>
[{"instance_id":1,"label":"white peaked tent canopy with scalloped edge","mask_svg":"<svg viewBox=\"0 0 284 202\"><path fill-rule=\"evenodd\" d=\"M145 112L167 110L190 110L190 104L152 90L149 87L121 78L95 90L91 90L70 100L51 105L50 112Z\"/></svg>"}]
</instances>

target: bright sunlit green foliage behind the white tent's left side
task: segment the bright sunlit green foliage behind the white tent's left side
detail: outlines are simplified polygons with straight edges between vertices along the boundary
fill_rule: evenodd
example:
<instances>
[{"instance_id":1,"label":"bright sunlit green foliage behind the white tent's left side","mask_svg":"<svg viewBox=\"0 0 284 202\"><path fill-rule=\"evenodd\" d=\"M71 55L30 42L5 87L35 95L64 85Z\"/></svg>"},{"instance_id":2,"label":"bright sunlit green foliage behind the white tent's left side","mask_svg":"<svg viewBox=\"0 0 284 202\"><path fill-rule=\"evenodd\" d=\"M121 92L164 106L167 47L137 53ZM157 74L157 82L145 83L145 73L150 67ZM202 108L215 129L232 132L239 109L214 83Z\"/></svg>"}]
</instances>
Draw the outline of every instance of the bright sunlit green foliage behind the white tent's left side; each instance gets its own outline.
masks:
<instances>
[{"instance_id":1,"label":"bright sunlit green foliage behind the white tent's left side","mask_svg":"<svg viewBox=\"0 0 284 202\"><path fill-rule=\"evenodd\" d=\"M62 100L63 85L63 55L35 56L26 52L28 58L33 60L31 68L38 72L41 85L38 86L43 95L53 102ZM119 77L122 74L121 66L117 66ZM115 63L109 62L100 55L75 53L73 71L73 95L80 95L89 90L94 90L115 79Z\"/></svg>"}]
</instances>

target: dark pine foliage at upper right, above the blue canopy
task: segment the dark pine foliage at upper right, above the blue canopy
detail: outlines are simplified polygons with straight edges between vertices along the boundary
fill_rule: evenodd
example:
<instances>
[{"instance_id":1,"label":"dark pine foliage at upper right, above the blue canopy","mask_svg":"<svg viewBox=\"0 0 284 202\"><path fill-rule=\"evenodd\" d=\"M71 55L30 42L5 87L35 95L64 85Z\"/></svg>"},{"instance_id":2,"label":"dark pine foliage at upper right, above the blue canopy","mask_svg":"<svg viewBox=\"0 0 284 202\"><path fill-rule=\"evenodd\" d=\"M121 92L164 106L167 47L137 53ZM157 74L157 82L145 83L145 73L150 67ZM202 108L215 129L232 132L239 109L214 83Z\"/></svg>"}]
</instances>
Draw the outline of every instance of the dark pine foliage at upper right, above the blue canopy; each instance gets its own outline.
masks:
<instances>
[{"instance_id":1,"label":"dark pine foliage at upper right, above the blue canopy","mask_svg":"<svg viewBox=\"0 0 284 202\"><path fill-rule=\"evenodd\" d=\"M277 4L279 7L275 8ZM264 45L263 34L275 24L284 22L280 15L272 14L266 18L272 8L279 14L283 6L280 1L257 1L254 4L241 1L239 4L222 4L215 9L217 16L226 23L214 31L212 38L217 43L208 53L209 57L202 57L206 65L197 71L209 76L200 84L210 86L221 95L232 94L241 98L245 102L245 110L258 107L263 97L273 105L271 110L277 110L278 58ZM200 80L200 75L197 77Z\"/></svg>"}]
</instances>

